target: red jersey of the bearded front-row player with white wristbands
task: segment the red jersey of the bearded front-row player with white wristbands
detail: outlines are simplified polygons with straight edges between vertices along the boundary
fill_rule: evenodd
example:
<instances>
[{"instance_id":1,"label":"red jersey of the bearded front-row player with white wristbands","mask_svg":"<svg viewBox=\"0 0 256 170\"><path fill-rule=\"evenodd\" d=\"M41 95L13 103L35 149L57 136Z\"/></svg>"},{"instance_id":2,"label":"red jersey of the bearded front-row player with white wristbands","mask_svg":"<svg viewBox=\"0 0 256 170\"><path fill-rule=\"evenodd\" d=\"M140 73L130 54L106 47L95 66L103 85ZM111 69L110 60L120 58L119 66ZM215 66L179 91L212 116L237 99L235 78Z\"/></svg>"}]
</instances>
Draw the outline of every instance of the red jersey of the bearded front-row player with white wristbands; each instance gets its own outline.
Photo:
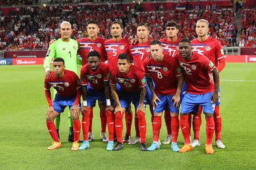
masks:
<instances>
[{"instance_id":1,"label":"red jersey of the bearded front-row player with white wristbands","mask_svg":"<svg viewBox=\"0 0 256 170\"><path fill-rule=\"evenodd\" d=\"M107 64L100 62L96 71L92 71L89 64L83 65L80 72L81 86L86 86L89 83L93 89L104 90L104 82L109 81L109 67Z\"/></svg>"}]
</instances>

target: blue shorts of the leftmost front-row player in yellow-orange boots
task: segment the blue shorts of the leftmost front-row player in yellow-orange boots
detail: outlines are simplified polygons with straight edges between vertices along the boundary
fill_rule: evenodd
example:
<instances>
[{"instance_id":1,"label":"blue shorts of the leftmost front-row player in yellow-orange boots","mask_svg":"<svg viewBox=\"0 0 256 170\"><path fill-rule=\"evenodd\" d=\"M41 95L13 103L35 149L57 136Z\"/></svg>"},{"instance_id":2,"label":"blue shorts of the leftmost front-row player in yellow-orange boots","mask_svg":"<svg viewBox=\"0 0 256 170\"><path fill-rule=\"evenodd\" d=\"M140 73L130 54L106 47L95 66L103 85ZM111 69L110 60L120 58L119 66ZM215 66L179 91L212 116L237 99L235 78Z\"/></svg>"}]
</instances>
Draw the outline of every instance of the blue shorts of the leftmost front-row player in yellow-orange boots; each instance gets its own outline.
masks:
<instances>
[{"instance_id":1,"label":"blue shorts of the leftmost front-row player in yellow-orange boots","mask_svg":"<svg viewBox=\"0 0 256 170\"><path fill-rule=\"evenodd\" d=\"M61 97L58 94L56 94L53 100L54 110L57 111L59 114L62 113L66 107L69 107L69 110L71 110L75 102L75 97L76 96L67 98ZM80 102L79 107L81 107Z\"/></svg>"}]
</instances>

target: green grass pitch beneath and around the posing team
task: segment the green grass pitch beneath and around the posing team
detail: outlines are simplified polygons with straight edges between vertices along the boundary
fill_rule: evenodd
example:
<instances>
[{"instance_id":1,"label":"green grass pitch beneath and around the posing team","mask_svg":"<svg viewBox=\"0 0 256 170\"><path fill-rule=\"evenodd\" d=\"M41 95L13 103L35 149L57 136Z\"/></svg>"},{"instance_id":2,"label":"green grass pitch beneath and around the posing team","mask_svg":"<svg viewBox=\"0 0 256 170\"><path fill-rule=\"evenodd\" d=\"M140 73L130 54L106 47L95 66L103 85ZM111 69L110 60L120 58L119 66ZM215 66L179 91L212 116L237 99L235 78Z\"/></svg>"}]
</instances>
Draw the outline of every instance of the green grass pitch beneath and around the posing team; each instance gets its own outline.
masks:
<instances>
[{"instance_id":1,"label":"green grass pitch beneath and around the posing team","mask_svg":"<svg viewBox=\"0 0 256 170\"><path fill-rule=\"evenodd\" d=\"M220 73L222 139L226 148L205 153L205 119L201 146L192 152L174 153L170 145L155 152L141 152L139 144L107 152L100 140L100 116L94 109L95 140L85 151L72 152L67 142L67 111L61 115L62 148L47 150L52 139L46 128L42 65L0 66L0 169L255 169L256 168L256 64L228 63ZM147 108L147 147L153 135ZM80 116L82 117L82 116ZM124 126L125 127L125 126ZM124 128L125 129L125 128ZM82 131L82 130L81 130ZM134 123L132 137L134 137ZM166 137L162 121L161 141ZM82 134L81 134L82 139ZM179 132L178 145L184 140Z\"/></svg>"}]
</instances>

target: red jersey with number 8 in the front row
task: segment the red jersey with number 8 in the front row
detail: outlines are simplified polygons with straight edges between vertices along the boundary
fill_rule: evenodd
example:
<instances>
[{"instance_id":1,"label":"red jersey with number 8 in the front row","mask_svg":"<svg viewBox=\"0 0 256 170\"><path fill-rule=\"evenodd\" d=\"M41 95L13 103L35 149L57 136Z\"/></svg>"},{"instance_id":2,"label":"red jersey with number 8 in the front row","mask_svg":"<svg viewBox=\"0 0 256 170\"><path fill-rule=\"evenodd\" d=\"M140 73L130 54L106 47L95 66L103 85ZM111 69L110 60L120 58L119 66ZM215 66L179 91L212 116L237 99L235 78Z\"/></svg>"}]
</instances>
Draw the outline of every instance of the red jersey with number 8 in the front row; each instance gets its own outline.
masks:
<instances>
[{"instance_id":1,"label":"red jersey with number 8 in the front row","mask_svg":"<svg viewBox=\"0 0 256 170\"><path fill-rule=\"evenodd\" d=\"M162 62L155 59L144 61L145 73L150 74L155 82L155 93L158 95L174 95L177 90L177 77L180 76L181 68L174 57L164 54Z\"/></svg>"}]
</instances>

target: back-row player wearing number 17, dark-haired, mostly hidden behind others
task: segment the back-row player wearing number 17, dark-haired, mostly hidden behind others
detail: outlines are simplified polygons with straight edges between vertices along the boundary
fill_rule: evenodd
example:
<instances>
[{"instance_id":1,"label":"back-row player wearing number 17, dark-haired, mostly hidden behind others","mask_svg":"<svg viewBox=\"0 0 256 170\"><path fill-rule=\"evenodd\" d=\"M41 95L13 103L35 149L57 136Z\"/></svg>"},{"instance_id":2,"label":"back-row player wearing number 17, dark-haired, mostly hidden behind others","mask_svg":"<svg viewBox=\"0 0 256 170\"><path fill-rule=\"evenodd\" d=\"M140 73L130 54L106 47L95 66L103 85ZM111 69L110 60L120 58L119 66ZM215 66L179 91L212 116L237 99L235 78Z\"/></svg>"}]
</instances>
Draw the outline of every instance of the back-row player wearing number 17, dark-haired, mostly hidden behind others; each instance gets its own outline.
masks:
<instances>
[{"instance_id":1,"label":"back-row player wearing number 17, dark-haired, mostly hidden behind others","mask_svg":"<svg viewBox=\"0 0 256 170\"><path fill-rule=\"evenodd\" d=\"M160 39L160 42L162 43L163 46L163 54L167 54L171 57L174 57L175 54L179 53L179 50L177 49L177 46L179 44L179 41L181 38L177 37L177 34L179 33L179 26L177 25L176 22L171 21L166 23L165 25L166 30L166 36L167 38ZM184 83L182 87L186 88L186 84ZM184 90L181 91L181 95L184 92ZM171 142L171 114L169 110L164 111L164 120L166 124L166 129L167 129L167 136L166 139L164 140L163 144L170 144Z\"/></svg>"}]
</instances>

